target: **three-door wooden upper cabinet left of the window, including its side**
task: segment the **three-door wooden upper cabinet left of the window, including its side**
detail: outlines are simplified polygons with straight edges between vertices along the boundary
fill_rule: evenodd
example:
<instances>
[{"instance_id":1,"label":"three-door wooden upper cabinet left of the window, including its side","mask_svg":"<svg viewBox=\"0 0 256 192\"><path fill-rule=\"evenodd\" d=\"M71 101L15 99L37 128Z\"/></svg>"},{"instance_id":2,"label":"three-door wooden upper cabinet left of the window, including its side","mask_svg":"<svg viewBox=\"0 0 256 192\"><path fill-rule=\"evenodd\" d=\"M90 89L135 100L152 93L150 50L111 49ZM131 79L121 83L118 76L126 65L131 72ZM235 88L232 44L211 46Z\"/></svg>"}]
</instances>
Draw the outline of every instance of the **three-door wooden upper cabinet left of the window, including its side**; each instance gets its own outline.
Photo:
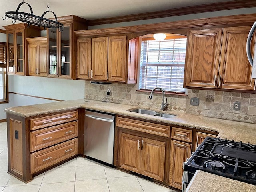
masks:
<instances>
[{"instance_id":1,"label":"three-door wooden upper cabinet left of the window, including its side","mask_svg":"<svg viewBox=\"0 0 256 192\"><path fill-rule=\"evenodd\" d=\"M138 38L78 38L76 49L77 79L136 83Z\"/></svg>"}]
</instances>

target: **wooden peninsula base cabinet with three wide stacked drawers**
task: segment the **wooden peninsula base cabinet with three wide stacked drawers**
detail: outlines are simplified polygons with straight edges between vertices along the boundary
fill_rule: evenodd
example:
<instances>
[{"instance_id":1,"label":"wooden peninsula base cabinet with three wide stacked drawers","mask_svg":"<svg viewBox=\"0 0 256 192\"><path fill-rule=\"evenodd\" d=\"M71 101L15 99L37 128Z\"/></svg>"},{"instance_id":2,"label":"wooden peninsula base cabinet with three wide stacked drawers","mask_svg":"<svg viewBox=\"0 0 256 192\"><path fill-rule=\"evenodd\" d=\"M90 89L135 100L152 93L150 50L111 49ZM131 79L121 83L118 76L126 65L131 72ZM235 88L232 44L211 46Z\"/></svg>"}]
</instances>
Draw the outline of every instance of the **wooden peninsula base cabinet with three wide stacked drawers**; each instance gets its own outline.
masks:
<instances>
[{"instance_id":1,"label":"wooden peninsula base cabinet with three wide stacked drawers","mask_svg":"<svg viewBox=\"0 0 256 192\"><path fill-rule=\"evenodd\" d=\"M81 116L84 112L81 110ZM81 118L80 118L81 119ZM81 120L83 122L83 120ZM78 110L22 117L7 112L8 173L24 183L83 151Z\"/></svg>"}]
</instances>

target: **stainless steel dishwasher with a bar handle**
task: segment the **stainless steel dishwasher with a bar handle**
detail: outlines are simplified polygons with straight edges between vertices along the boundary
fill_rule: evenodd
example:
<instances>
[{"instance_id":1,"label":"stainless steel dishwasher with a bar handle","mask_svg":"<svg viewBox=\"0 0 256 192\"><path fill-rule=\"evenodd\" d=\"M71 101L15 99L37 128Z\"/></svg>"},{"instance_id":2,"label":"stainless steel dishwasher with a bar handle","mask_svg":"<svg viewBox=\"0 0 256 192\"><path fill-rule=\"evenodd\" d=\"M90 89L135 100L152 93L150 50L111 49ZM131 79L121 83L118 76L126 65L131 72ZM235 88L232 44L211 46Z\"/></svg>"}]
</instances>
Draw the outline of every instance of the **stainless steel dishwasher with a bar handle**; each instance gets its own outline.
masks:
<instances>
[{"instance_id":1,"label":"stainless steel dishwasher with a bar handle","mask_svg":"<svg viewBox=\"0 0 256 192\"><path fill-rule=\"evenodd\" d=\"M113 165L114 115L85 112L84 155Z\"/></svg>"}]
</instances>

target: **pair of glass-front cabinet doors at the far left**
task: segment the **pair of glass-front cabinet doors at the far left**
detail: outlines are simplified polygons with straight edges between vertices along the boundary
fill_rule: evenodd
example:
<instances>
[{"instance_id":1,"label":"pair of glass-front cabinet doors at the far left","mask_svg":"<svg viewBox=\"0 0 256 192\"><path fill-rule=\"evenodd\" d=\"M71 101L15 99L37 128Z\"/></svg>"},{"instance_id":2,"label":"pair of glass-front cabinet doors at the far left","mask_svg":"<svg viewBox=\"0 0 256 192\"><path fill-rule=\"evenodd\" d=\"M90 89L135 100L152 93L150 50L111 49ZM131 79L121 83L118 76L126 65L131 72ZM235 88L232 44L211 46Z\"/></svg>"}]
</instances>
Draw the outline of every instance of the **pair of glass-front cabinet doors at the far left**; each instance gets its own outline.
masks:
<instances>
[{"instance_id":1,"label":"pair of glass-front cabinet doors at the far left","mask_svg":"<svg viewBox=\"0 0 256 192\"><path fill-rule=\"evenodd\" d=\"M24 30L7 32L8 75L25 75L24 39Z\"/></svg>"}]
</instances>

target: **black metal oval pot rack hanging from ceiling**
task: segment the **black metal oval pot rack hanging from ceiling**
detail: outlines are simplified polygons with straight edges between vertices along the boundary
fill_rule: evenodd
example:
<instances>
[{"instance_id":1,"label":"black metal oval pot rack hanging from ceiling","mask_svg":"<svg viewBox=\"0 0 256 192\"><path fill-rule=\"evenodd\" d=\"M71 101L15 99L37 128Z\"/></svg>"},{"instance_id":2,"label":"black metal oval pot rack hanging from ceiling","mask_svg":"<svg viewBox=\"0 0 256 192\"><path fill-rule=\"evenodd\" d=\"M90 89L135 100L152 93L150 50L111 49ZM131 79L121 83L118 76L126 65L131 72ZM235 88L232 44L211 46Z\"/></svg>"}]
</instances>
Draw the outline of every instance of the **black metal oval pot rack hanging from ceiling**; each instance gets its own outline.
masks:
<instances>
[{"instance_id":1,"label":"black metal oval pot rack hanging from ceiling","mask_svg":"<svg viewBox=\"0 0 256 192\"><path fill-rule=\"evenodd\" d=\"M20 6L22 6L22 4L24 4L24 3L27 4L28 7L30 8L30 13L19 12ZM44 12L41 17L36 16L33 14L33 10L32 10L32 7L30 6L30 4L23 1L18 5L16 11L5 12L5 18L2 17L2 19L8 20L9 18L11 18L11 19L13 19L12 23L15 23L16 20L18 20L18 21L27 23L28 27L31 24L31 25L35 25L35 26L44 27L44 28L57 28L59 31L62 31L63 24L57 21L57 16L54 12L49 11L48 4L47 4L47 8L48 8L48 10L46 12ZM44 15L48 12L52 12L52 14L55 17L55 21L44 18Z\"/></svg>"}]
</instances>

